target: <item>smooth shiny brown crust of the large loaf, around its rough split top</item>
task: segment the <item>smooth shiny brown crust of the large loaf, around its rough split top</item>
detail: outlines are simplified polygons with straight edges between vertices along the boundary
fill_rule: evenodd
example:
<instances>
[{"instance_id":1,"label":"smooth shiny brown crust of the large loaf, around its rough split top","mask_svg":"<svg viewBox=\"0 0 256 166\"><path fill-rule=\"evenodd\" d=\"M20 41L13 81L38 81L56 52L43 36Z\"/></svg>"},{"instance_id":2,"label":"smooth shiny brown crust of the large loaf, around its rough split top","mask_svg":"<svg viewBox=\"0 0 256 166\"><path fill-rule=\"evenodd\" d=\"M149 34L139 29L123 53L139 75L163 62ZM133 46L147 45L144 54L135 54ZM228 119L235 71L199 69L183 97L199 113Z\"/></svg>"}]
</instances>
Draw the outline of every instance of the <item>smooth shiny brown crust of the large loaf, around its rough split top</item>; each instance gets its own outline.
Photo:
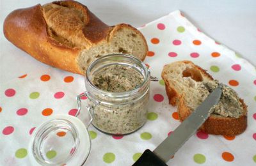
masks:
<instances>
[{"instance_id":1,"label":"smooth shiny brown crust of the large loaf, around its rough split top","mask_svg":"<svg viewBox=\"0 0 256 166\"><path fill-rule=\"evenodd\" d=\"M115 32L121 28L129 28L139 34L145 43L144 47L148 50L147 42L137 29L127 24L118 24L117 26L108 26L98 19L83 4L76 1L56 1L52 4L58 4L68 8L76 8L83 15L84 27L80 29L82 35L78 36L83 41L81 45L69 45L65 42L56 40L49 34L49 27L45 21L44 8L37 4L31 8L23 8L12 11L4 20L4 36L19 49L24 50L42 63L49 64L56 68L66 70L72 73L84 75L84 71L78 64L78 57L83 49L90 49L102 41L109 41L115 35ZM66 22L67 23L67 22ZM66 26L66 23L63 23ZM70 31L70 36L74 31ZM79 42L77 42L79 43ZM147 51L141 55L144 60Z\"/></svg>"}]
</instances>

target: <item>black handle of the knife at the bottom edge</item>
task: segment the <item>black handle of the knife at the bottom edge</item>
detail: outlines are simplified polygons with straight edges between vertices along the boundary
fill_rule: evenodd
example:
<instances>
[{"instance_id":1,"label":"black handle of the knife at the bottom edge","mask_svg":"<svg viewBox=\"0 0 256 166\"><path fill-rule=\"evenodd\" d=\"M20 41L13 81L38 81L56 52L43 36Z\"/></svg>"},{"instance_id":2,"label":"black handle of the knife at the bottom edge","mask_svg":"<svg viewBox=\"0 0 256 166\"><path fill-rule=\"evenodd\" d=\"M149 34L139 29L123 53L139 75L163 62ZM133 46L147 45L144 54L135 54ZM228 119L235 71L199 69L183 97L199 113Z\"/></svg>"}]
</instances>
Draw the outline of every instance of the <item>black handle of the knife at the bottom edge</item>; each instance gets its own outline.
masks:
<instances>
[{"instance_id":1,"label":"black handle of the knife at the bottom edge","mask_svg":"<svg viewBox=\"0 0 256 166\"><path fill-rule=\"evenodd\" d=\"M149 149L132 166L168 166Z\"/></svg>"}]
</instances>

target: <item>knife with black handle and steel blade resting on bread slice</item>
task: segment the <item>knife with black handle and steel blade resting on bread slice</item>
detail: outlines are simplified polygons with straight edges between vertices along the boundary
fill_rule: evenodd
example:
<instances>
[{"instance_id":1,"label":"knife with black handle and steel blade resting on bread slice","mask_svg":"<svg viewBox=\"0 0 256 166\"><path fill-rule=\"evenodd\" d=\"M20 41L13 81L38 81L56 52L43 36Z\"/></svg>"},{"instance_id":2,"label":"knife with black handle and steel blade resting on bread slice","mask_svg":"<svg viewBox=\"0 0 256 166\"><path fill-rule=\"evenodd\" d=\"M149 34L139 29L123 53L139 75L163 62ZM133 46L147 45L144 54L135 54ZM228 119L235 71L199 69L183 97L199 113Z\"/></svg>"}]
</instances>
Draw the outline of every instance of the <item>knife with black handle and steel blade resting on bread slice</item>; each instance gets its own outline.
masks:
<instances>
[{"instance_id":1,"label":"knife with black handle and steel blade resting on bread slice","mask_svg":"<svg viewBox=\"0 0 256 166\"><path fill-rule=\"evenodd\" d=\"M221 96L221 85L218 86L202 102L189 117L187 117L159 146L150 151L145 150L133 166L166 165L182 145L198 130L210 116L212 106L218 104Z\"/></svg>"}]
</instances>

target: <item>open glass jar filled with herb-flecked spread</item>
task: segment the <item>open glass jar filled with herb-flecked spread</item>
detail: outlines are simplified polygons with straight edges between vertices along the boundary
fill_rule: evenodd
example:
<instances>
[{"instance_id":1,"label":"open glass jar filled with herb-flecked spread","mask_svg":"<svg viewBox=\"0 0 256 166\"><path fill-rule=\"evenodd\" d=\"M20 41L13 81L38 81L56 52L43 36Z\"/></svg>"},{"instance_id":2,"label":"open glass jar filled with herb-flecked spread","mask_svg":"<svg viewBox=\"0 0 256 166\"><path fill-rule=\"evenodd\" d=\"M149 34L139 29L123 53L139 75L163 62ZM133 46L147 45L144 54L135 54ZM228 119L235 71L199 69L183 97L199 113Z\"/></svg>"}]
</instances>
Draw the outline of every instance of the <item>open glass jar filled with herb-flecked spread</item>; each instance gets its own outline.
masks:
<instances>
[{"instance_id":1,"label":"open glass jar filled with herb-flecked spread","mask_svg":"<svg viewBox=\"0 0 256 166\"><path fill-rule=\"evenodd\" d=\"M130 91L109 92L93 85L93 75L111 65L125 66L143 76L142 83ZM86 71L86 92L88 112L92 124L101 132L124 135L132 133L147 121L150 72L139 59L126 54L111 54L94 61Z\"/></svg>"}]
</instances>

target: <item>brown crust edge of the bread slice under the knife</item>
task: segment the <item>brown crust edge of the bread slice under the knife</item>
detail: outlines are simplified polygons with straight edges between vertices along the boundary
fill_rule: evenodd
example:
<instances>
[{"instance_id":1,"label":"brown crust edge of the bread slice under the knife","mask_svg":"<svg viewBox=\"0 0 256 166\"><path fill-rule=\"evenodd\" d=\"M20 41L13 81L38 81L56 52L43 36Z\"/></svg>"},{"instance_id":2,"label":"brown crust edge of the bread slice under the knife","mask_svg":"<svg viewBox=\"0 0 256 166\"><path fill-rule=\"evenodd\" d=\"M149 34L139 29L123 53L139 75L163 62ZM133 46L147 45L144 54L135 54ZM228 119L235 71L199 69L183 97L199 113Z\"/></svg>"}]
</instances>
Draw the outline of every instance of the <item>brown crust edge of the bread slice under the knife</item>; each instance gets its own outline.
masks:
<instances>
[{"instance_id":1,"label":"brown crust edge of the bread slice under the knife","mask_svg":"<svg viewBox=\"0 0 256 166\"><path fill-rule=\"evenodd\" d=\"M180 61L176 63L193 64L190 61ZM200 70L200 72L202 72L202 75L204 75L205 77L209 77L209 79L213 80L211 75L209 75L199 66L193 64L193 67ZM177 112L179 114L179 119L182 122L191 114L192 110L185 103L184 98L186 94L179 94L173 86L172 82L170 82L166 77L166 70L168 69L165 68L162 72L162 78L166 86L166 94L168 96L169 103L173 106L178 106ZM199 130L209 134L227 136L234 136L243 133L247 127L247 106L242 99L240 99L240 102L242 103L244 110L243 114L240 117L223 117L211 114L211 116L205 121L204 124L202 124Z\"/></svg>"}]
</instances>

